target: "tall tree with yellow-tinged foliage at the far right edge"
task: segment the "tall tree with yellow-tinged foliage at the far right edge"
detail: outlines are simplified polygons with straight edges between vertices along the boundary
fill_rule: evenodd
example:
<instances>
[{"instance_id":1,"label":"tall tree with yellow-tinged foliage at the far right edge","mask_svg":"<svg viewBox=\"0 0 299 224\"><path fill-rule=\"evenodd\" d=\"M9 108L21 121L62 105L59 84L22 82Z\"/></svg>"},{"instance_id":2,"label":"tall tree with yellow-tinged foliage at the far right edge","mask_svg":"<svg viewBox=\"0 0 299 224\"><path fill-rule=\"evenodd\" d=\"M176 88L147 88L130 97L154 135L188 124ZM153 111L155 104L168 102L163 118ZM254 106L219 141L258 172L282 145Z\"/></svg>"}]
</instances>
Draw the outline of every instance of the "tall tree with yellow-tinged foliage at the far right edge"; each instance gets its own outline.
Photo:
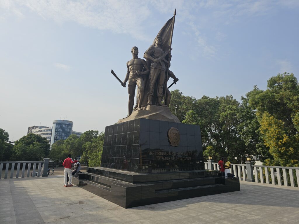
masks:
<instances>
[{"instance_id":1,"label":"tall tree with yellow-tinged foliage at the far right edge","mask_svg":"<svg viewBox=\"0 0 299 224\"><path fill-rule=\"evenodd\" d=\"M268 80L267 89L251 91L249 105L256 110L263 143L271 158L267 165L299 166L299 85L293 73Z\"/></svg>"}]
</instances>

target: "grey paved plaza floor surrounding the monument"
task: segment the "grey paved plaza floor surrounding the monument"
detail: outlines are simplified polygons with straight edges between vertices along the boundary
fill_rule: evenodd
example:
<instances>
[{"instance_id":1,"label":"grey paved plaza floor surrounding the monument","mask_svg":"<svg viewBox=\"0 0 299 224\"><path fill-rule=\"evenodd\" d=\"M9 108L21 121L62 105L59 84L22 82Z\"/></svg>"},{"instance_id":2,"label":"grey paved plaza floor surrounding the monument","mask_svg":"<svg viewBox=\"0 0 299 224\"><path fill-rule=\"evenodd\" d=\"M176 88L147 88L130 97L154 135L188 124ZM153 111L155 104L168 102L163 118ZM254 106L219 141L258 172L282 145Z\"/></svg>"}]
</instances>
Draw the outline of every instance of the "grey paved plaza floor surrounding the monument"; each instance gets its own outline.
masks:
<instances>
[{"instance_id":1,"label":"grey paved plaza floor surrounding the monument","mask_svg":"<svg viewBox=\"0 0 299 224\"><path fill-rule=\"evenodd\" d=\"M0 179L0 224L298 223L299 188L241 182L241 191L122 208L63 176Z\"/></svg>"}]
</instances>

